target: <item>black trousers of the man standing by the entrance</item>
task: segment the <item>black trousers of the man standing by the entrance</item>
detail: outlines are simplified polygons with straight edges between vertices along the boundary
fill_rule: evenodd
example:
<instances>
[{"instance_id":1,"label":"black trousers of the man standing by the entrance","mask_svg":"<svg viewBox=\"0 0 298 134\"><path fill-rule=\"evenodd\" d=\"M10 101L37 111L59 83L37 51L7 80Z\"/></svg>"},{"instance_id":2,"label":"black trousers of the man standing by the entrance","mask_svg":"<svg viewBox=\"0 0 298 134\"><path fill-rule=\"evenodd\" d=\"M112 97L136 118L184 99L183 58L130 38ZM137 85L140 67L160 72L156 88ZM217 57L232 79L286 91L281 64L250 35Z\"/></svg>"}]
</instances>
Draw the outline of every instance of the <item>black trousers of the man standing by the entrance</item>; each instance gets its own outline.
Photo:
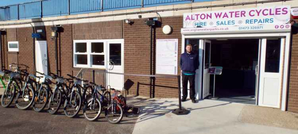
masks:
<instances>
[{"instance_id":1,"label":"black trousers of the man standing by the entrance","mask_svg":"<svg viewBox=\"0 0 298 134\"><path fill-rule=\"evenodd\" d=\"M184 75L182 74L182 98L187 98L187 84L189 81L189 97L195 99L195 74L194 75Z\"/></svg>"}]
</instances>

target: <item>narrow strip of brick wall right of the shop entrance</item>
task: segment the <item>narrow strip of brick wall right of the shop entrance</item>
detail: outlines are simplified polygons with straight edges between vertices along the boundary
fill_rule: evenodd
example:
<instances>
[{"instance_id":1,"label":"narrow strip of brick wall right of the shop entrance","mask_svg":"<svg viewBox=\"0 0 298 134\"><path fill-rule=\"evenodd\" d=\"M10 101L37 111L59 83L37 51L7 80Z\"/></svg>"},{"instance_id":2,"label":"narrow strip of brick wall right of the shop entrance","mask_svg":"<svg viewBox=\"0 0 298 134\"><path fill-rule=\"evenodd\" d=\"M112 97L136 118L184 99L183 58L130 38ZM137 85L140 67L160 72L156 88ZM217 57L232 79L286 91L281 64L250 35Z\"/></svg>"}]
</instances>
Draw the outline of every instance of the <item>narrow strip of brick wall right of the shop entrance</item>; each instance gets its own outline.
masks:
<instances>
[{"instance_id":1,"label":"narrow strip of brick wall right of the shop entrance","mask_svg":"<svg viewBox=\"0 0 298 134\"><path fill-rule=\"evenodd\" d=\"M288 111L298 113L298 34L293 35L292 38Z\"/></svg>"}]
</instances>

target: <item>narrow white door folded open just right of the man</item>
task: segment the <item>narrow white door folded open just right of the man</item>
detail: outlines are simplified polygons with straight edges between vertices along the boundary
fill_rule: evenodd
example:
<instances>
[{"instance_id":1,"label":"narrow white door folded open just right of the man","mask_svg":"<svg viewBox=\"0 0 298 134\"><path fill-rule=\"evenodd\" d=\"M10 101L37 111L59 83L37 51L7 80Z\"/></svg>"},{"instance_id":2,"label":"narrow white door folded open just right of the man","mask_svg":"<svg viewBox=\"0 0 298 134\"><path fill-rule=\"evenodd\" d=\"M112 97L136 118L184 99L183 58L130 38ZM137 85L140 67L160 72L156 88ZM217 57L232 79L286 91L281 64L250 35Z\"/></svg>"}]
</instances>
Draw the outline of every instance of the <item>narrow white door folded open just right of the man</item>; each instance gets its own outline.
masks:
<instances>
[{"instance_id":1,"label":"narrow white door folded open just right of the man","mask_svg":"<svg viewBox=\"0 0 298 134\"><path fill-rule=\"evenodd\" d=\"M211 66L211 40L204 40L204 62L203 62L203 99L209 95L210 74L208 73Z\"/></svg>"}]
</instances>

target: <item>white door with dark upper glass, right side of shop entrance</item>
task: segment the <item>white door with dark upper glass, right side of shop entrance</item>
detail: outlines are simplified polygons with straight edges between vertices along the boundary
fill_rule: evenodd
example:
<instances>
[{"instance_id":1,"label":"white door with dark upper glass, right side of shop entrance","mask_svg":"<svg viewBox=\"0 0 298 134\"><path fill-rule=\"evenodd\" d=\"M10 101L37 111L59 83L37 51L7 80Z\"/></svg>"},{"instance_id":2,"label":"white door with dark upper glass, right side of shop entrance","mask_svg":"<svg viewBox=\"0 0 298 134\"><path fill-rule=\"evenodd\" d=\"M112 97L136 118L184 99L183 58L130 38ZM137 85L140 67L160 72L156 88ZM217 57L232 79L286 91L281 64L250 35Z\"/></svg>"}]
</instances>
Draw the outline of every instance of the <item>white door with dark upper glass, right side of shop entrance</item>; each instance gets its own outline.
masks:
<instances>
[{"instance_id":1,"label":"white door with dark upper glass, right side of shop entrance","mask_svg":"<svg viewBox=\"0 0 298 134\"><path fill-rule=\"evenodd\" d=\"M280 107L284 38L262 39L258 104Z\"/></svg>"}]
</instances>

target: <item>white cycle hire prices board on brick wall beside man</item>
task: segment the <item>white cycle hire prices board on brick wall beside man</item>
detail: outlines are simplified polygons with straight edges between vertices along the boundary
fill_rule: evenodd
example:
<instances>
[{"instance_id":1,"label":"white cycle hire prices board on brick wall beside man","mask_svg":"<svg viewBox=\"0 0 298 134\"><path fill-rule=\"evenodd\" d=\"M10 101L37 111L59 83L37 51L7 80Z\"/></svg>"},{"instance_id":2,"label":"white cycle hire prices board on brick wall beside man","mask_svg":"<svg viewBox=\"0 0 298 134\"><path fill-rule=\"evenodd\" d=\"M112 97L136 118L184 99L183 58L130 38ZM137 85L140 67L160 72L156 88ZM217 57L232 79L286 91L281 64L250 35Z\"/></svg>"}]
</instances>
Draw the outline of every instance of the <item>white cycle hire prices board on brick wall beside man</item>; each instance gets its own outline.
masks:
<instances>
[{"instance_id":1,"label":"white cycle hire prices board on brick wall beside man","mask_svg":"<svg viewBox=\"0 0 298 134\"><path fill-rule=\"evenodd\" d=\"M177 75L178 39L156 40L156 74Z\"/></svg>"}]
</instances>

